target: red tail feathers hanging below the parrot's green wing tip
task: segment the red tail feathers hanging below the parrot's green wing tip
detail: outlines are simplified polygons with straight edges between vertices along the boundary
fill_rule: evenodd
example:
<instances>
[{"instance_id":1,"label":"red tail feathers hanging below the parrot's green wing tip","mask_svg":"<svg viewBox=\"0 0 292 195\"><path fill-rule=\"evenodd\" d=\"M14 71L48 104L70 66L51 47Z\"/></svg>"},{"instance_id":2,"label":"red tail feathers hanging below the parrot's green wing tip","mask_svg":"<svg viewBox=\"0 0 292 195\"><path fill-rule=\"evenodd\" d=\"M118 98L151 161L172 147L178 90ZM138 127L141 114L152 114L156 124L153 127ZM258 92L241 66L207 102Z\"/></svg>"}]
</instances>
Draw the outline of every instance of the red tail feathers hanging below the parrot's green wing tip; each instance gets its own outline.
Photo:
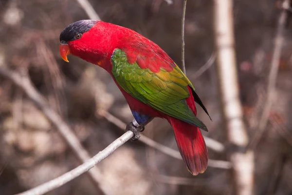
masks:
<instances>
[{"instance_id":1,"label":"red tail feathers hanging below the parrot's green wing tip","mask_svg":"<svg viewBox=\"0 0 292 195\"><path fill-rule=\"evenodd\" d=\"M198 127L169 117L174 136L189 172L194 176L207 169L208 151L201 131Z\"/></svg>"}]
</instances>

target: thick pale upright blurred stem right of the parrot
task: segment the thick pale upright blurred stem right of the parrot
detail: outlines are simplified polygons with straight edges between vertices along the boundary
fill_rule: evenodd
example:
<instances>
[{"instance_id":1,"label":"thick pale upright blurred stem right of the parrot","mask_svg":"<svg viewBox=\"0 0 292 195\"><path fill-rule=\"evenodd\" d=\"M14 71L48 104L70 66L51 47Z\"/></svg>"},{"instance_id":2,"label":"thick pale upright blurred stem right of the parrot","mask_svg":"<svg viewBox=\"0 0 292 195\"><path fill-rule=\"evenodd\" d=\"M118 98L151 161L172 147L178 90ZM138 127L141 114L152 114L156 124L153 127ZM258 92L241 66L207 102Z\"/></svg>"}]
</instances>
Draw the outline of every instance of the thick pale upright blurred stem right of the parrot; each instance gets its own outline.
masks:
<instances>
[{"instance_id":1,"label":"thick pale upright blurred stem right of the parrot","mask_svg":"<svg viewBox=\"0 0 292 195\"><path fill-rule=\"evenodd\" d=\"M232 151L228 155L233 164L233 194L252 195L254 153L245 152L248 136L239 99L232 0L214 0L214 30L222 117L225 121L227 138L232 146Z\"/></svg>"}]
</instances>

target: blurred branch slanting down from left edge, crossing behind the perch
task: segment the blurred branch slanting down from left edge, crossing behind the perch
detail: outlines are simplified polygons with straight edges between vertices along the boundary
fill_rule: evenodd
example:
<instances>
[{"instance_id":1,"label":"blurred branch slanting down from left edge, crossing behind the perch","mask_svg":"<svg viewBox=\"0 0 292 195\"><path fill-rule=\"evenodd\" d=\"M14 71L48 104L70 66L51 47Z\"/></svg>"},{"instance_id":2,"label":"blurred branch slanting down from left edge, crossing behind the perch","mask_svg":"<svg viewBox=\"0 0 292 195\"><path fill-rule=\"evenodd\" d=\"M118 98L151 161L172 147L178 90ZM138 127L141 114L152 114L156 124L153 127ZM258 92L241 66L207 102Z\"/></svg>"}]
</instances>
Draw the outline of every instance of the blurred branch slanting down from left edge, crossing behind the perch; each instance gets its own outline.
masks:
<instances>
[{"instance_id":1,"label":"blurred branch slanting down from left edge, crossing behind the perch","mask_svg":"<svg viewBox=\"0 0 292 195\"><path fill-rule=\"evenodd\" d=\"M26 73L24 75L20 75L15 71L0 67L0 75L10 79L16 86L23 90L28 98L30 98L37 105L37 107L44 113L44 115L55 125L61 136L65 139L67 144L71 147L74 154L80 159L81 162L86 162L88 159L90 159L90 155L82 147L78 138L74 135L73 130L49 106L49 103L46 101L46 99L37 92ZM100 171L95 167L94 169L90 170L89 176L95 185L98 186L101 180Z\"/></svg>"}]
</instances>

